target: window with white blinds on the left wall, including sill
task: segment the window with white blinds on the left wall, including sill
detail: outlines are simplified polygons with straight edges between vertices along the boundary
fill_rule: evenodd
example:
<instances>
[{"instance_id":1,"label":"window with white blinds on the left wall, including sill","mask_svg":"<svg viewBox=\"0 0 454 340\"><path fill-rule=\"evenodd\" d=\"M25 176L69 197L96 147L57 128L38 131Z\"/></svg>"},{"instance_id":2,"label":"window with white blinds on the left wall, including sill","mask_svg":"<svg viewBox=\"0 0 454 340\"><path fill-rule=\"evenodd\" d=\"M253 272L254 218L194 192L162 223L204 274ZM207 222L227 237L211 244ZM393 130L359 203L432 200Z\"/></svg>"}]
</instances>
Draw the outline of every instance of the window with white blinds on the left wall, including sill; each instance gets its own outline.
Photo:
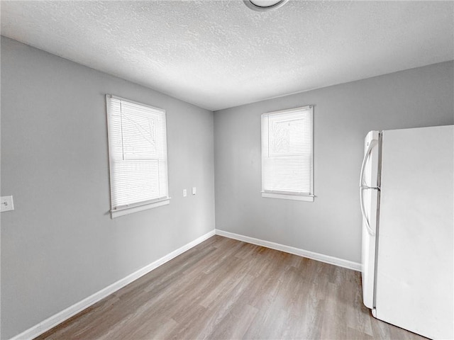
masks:
<instances>
[{"instance_id":1,"label":"window with white blinds on the left wall, including sill","mask_svg":"<svg viewBox=\"0 0 454 340\"><path fill-rule=\"evenodd\" d=\"M106 95L111 215L169 203L165 111Z\"/></svg>"}]
</instances>

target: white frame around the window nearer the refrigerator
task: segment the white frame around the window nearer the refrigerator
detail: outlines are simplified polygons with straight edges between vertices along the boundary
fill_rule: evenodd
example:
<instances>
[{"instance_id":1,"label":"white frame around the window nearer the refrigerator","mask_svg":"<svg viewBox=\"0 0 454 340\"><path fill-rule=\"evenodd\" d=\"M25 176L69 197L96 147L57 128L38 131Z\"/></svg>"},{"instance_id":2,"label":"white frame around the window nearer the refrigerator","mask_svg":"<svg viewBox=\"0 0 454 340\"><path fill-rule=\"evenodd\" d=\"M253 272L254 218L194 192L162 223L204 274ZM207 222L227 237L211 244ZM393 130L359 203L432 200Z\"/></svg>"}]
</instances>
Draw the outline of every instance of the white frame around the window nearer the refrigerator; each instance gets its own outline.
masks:
<instances>
[{"instance_id":1,"label":"white frame around the window nearer the refrigerator","mask_svg":"<svg viewBox=\"0 0 454 340\"><path fill-rule=\"evenodd\" d=\"M304 111L304 114L309 114L310 117L310 129L311 135L309 140L306 142L310 142L310 176L309 176L309 192L294 192L294 191L276 191L270 190L265 188L265 157L269 157L265 155L265 147L269 148L269 141L266 140L268 138L269 127L268 127L268 118L272 115L291 115L298 113L299 111ZM262 149L261 149L261 157L262 157L262 197L264 198L280 198L285 200L303 200L307 202L314 202L314 106L301 106L299 108L292 108L288 110L282 111L273 111L269 113L263 113L261 116L261 128L262 128ZM269 153L269 152L268 152Z\"/></svg>"}]
</instances>

